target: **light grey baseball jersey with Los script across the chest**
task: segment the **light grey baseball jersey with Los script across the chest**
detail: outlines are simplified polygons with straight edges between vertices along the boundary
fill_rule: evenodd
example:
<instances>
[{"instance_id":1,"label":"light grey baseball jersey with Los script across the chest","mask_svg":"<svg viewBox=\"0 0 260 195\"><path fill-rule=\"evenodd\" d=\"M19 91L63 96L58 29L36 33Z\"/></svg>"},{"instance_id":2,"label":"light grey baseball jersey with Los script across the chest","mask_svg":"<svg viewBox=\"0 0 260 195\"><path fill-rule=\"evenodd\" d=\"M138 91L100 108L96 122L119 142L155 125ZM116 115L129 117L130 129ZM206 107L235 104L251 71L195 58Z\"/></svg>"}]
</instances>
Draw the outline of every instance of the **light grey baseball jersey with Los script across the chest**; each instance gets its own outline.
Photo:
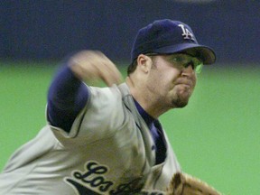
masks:
<instances>
[{"instance_id":1,"label":"light grey baseball jersey with Los script across the chest","mask_svg":"<svg viewBox=\"0 0 260 195\"><path fill-rule=\"evenodd\" d=\"M179 163L164 133L163 163L125 83L88 87L90 98L70 134L46 125L0 174L0 194L163 194Z\"/></svg>"}]
</instances>

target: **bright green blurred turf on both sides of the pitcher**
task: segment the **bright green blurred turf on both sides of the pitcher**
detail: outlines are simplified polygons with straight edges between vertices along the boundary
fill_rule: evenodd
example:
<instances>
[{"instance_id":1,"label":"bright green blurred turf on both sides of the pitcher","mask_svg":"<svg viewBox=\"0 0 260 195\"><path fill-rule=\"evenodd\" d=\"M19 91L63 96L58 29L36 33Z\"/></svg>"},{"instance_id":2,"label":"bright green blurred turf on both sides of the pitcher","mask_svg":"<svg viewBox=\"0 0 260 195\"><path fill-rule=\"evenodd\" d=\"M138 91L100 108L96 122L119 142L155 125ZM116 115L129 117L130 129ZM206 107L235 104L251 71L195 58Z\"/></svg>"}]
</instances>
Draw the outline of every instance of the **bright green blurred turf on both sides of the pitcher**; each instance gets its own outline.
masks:
<instances>
[{"instance_id":1,"label":"bright green blurred turf on both sides of the pitcher","mask_svg":"<svg viewBox=\"0 0 260 195\"><path fill-rule=\"evenodd\" d=\"M57 69L12 64L0 65L0 170L45 125L46 93ZM189 106L160 118L183 171L225 194L260 191L260 68L245 67L205 67Z\"/></svg>"}]
</instances>

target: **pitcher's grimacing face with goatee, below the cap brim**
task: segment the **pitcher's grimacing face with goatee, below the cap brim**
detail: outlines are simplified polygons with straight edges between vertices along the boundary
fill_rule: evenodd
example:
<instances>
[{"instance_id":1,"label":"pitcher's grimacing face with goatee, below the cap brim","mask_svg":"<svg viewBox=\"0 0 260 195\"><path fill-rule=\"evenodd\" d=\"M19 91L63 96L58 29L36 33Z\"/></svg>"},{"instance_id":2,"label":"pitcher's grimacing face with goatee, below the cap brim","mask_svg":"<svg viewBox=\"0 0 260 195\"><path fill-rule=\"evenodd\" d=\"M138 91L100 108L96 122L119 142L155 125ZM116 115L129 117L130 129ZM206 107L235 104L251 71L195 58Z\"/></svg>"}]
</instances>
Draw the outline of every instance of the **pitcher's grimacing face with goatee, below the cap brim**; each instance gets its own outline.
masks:
<instances>
[{"instance_id":1,"label":"pitcher's grimacing face with goatee, below the cap brim","mask_svg":"<svg viewBox=\"0 0 260 195\"><path fill-rule=\"evenodd\" d=\"M184 67L183 63L176 60L176 54L156 55L152 59L153 65L147 80L148 90L166 107L185 107L197 79L192 63Z\"/></svg>"}]
</instances>

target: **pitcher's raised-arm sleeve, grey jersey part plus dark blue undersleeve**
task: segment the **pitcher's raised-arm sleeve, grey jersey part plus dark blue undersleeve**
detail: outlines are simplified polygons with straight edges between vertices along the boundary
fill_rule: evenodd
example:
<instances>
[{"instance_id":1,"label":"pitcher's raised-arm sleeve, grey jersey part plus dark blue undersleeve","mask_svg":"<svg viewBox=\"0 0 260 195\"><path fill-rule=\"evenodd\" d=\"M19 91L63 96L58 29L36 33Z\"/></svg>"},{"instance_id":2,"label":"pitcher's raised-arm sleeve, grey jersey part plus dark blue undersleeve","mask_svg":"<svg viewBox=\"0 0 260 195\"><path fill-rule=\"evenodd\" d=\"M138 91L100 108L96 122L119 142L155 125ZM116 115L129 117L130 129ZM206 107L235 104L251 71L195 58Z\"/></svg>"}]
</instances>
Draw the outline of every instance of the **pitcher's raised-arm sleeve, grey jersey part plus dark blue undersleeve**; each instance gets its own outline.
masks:
<instances>
[{"instance_id":1,"label":"pitcher's raised-arm sleeve, grey jersey part plus dark blue undersleeve","mask_svg":"<svg viewBox=\"0 0 260 195\"><path fill-rule=\"evenodd\" d=\"M62 144L84 144L114 134L124 122L122 94L116 85L96 88L78 79L68 66L51 82L46 116Z\"/></svg>"}]
</instances>

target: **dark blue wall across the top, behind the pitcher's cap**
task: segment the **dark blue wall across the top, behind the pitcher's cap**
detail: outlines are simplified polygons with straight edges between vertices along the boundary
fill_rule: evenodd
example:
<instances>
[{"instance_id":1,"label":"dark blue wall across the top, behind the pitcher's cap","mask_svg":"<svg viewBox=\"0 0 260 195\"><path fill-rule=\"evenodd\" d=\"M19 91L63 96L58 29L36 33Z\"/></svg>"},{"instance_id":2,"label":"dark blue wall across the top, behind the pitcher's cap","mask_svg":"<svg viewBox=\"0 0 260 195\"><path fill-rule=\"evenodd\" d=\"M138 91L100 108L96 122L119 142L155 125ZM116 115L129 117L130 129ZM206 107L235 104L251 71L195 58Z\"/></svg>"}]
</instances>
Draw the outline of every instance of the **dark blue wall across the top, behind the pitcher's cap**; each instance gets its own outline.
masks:
<instances>
[{"instance_id":1,"label":"dark blue wall across the top, behind the pitcher's cap","mask_svg":"<svg viewBox=\"0 0 260 195\"><path fill-rule=\"evenodd\" d=\"M260 60L258 0L4 0L0 18L2 59L60 59L91 49L129 60L138 29L170 18L188 23L200 43L215 49L219 62Z\"/></svg>"}]
</instances>

